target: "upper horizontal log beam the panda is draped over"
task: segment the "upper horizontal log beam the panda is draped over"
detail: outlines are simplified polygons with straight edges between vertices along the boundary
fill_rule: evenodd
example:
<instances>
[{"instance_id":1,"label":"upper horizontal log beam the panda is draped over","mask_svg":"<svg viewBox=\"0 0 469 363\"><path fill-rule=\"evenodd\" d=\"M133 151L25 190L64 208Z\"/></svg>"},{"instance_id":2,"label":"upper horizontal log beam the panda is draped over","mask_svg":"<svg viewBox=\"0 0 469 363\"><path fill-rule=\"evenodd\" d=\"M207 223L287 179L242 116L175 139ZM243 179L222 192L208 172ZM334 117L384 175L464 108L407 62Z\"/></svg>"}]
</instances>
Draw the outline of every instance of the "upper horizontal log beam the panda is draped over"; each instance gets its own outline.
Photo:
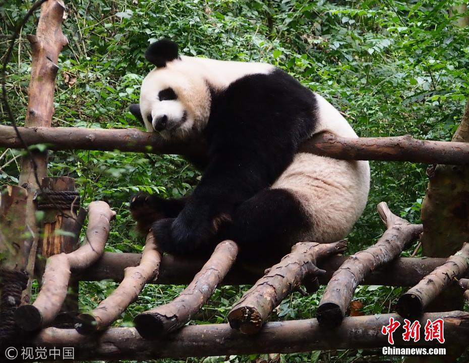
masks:
<instances>
[{"instance_id":1,"label":"upper horizontal log beam the panda is draped over","mask_svg":"<svg viewBox=\"0 0 469 363\"><path fill-rule=\"evenodd\" d=\"M77 127L19 127L28 145L48 144L51 150L121 150L201 156L196 141L168 143L155 133L138 129L86 129ZM0 147L24 145L11 126L0 125ZM319 134L306 141L302 151L343 160L408 161L428 164L469 164L469 143L417 140L412 136L335 137Z\"/></svg>"}]
</instances>

